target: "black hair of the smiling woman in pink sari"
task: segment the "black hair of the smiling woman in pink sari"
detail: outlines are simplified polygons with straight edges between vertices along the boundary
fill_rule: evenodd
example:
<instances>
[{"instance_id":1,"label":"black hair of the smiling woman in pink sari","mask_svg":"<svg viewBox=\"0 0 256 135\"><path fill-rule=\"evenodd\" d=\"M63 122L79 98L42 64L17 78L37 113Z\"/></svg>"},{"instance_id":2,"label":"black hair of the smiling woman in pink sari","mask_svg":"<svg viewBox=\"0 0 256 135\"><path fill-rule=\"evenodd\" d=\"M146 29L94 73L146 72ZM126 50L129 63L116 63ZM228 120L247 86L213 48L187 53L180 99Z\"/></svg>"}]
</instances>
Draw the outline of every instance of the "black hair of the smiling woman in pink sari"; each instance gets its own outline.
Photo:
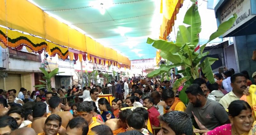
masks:
<instances>
[{"instance_id":1,"label":"black hair of the smiling woman in pink sari","mask_svg":"<svg viewBox=\"0 0 256 135\"><path fill-rule=\"evenodd\" d=\"M228 115L235 117L238 116L242 110L252 110L251 106L243 100L232 101L228 106Z\"/></svg>"}]
</instances>

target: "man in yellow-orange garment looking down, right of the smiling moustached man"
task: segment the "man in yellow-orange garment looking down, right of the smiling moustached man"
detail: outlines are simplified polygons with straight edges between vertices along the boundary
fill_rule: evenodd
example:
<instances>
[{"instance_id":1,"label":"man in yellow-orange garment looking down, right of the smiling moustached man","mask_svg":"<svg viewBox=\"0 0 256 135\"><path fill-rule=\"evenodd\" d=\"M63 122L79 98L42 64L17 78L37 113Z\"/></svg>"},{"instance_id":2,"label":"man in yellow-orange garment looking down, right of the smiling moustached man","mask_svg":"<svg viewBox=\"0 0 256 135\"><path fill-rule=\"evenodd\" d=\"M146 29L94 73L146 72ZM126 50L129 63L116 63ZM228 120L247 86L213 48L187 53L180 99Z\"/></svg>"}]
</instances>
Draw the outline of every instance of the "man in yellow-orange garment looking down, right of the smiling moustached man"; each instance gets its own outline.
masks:
<instances>
[{"instance_id":1,"label":"man in yellow-orange garment looking down, right of the smiling moustached man","mask_svg":"<svg viewBox=\"0 0 256 135\"><path fill-rule=\"evenodd\" d=\"M80 103L77 107L77 114L81 117L84 118L84 120L88 123L89 125L89 131L88 134L91 134L91 129L97 125L100 125L98 122L94 122L92 120L92 114L93 114L93 105L92 101L84 101Z\"/></svg>"}]
</instances>

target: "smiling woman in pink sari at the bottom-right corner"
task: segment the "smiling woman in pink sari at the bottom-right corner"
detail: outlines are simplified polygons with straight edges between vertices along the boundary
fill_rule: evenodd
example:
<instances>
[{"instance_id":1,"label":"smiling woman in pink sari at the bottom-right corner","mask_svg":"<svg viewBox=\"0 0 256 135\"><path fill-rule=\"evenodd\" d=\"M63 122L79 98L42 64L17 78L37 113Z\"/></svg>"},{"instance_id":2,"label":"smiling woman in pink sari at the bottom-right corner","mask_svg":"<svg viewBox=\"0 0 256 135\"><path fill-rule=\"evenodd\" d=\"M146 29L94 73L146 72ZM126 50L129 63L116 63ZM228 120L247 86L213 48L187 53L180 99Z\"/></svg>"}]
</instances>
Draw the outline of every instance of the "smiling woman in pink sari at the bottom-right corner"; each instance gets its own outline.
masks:
<instances>
[{"instance_id":1,"label":"smiling woman in pink sari at the bottom-right corner","mask_svg":"<svg viewBox=\"0 0 256 135\"><path fill-rule=\"evenodd\" d=\"M254 119L250 105L243 100L235 100L228 106L231 124L219 126L204 135L252 135Z\"/></svg>"}]
</instances>

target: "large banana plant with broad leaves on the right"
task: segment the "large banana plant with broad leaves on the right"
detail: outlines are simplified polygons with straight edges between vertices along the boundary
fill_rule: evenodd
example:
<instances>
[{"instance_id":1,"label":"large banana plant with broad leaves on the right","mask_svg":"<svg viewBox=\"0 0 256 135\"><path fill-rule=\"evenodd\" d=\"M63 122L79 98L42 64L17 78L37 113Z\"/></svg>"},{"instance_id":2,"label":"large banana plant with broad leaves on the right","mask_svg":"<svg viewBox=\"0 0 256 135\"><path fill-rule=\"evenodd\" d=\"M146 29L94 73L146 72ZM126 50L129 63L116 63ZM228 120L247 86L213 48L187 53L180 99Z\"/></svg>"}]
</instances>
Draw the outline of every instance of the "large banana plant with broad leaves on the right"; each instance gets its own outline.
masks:
<instances>
[{"instance_id":1,"label":"large banana plant with broad leaves on the right","mask_svg":"<svg viewBox=\"0 0 256 135\"><path fill-rule=\"evenodd\" d=\"M234 14L227 21L220 24L217 31L211 34L207 43L224 34L234 24L236 18L237 15ZM187 104L188 98L185 94L185 90L193 83L194 79L199 78L199 69L203 71L210 83L214 83L211 65L218 59L206 57L202 62L202 59L209 54L209 52L203 53L207 43L200 47L200 52L195 52L196 45L199 43L198 35L201 32L201 17L196 3L193 3L186 12L183 23L187 24L188 27L183 25L179 26L175 43L148 38L147 43L153 43L153 47L161 50L160 56L172 62L172 64L169 65L161 64L160 68L150 72L148 77L161 75L172 70L174 67L182 66L184 70L180 70L178 73L182 73L184 77L174 82L173 91L176 93L179 86L185 83L179 97L181 101Z\"/></svg>"}]
</instances>

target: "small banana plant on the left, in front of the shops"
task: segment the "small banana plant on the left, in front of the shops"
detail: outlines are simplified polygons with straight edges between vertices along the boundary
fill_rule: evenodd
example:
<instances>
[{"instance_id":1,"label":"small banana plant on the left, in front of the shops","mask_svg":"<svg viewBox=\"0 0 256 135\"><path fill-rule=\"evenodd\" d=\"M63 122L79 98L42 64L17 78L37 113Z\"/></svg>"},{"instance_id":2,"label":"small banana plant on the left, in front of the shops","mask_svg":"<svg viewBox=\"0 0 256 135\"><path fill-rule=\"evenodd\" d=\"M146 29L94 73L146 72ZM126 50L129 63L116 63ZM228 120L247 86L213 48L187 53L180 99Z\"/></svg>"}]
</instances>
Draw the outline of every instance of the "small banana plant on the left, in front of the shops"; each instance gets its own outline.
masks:
<instances>
[{"instance_id":1,"label":"small banana plant on the left, in front of the shops","mask_svg":"<svg viewBox=\"0 0 256 135\"><path fill-rule=\"evenodd\" d=\"M53 71L49 72L46 71L44 68L39 68L42 73L44 74L43 76L43 79L45 79L46 81L44 80L39 80L41 83L43 83L42 85L36 85L34 87L36 87L37 89L47 89L48 91L51 91L52 90L52 85L51 85L51 79L52 77L54 77L55 75L59 74L59 73L64 73L64 72L59 72L59 68L56 68L54 69Z\"/></svg>"}]
</instances>

